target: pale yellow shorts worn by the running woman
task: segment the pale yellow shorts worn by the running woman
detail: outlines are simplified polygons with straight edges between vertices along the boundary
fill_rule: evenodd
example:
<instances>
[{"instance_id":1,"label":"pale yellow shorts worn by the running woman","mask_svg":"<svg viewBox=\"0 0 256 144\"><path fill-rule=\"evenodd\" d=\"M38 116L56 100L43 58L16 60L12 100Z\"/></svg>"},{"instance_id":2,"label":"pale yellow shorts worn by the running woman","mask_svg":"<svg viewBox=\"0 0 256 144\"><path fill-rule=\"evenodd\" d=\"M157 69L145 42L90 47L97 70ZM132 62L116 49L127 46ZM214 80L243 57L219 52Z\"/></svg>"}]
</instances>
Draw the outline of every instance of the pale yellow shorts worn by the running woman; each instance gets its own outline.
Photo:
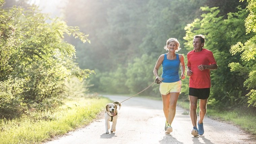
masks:
<instances>
[{"instance_id":1,"label":"pale yellow shorts worn by the running woman","mask_svg":"<svg viewBox=\"0 0 256 144\"><path fill-rule=\"evenodd\" d=\"M159 91L162 95L166 95L170 92L181 92L181 81L162 82L160 83Z\"/></svg>"}]
</instances>

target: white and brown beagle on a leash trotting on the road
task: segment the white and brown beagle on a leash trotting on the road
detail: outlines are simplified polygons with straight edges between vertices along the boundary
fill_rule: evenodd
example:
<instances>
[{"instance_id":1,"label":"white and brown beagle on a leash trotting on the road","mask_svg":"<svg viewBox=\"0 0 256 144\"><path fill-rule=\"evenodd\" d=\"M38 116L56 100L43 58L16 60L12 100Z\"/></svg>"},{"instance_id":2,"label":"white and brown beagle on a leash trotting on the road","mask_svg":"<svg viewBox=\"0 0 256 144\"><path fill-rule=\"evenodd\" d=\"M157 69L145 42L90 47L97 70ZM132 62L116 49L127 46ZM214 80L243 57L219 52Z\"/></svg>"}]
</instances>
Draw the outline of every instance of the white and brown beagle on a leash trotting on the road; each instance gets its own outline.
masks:
<instances>
[{"instance_id":1,"label":"white and brown beagle on a leash trotting on the road","mask_svg":"<svg viewBox=\"0 0 256 144\"><path fill-rule=\"evenodd\" d=\"M117 105L119 105L119 110L121 109L122 104L119 101L115 101L113 103L108 103L106 105L105 110L105 127L106 127L106 134L109 134L108 129L110 128L109 121L113 122L111 126L110 132L113 133L116 131L117 125Z\"/></svg>"}]
</instances>

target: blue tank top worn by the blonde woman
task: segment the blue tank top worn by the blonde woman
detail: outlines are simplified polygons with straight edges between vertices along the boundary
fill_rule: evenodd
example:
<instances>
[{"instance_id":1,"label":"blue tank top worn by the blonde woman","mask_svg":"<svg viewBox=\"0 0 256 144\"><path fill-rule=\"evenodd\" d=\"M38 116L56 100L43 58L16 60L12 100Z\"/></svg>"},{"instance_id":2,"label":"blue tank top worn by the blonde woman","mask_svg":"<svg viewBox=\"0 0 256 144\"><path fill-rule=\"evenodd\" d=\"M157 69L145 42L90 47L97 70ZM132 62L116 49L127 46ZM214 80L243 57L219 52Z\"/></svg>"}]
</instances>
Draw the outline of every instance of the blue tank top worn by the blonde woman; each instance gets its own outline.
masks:
<instances>
[{"instance_id":1,"label":"blue tank top worn by the blonde woman","mask_svg":"<svg viewBox=\"0 0 256 144\"><path fill-rule=\"evenodd\" d=\"M162 62L163 73L162 82L176 82L180 80L179 67L180 67L179 54L176 54L176 59L168 60L166 54L164 54L164 60Z\"/></svg>"}]
</instances>

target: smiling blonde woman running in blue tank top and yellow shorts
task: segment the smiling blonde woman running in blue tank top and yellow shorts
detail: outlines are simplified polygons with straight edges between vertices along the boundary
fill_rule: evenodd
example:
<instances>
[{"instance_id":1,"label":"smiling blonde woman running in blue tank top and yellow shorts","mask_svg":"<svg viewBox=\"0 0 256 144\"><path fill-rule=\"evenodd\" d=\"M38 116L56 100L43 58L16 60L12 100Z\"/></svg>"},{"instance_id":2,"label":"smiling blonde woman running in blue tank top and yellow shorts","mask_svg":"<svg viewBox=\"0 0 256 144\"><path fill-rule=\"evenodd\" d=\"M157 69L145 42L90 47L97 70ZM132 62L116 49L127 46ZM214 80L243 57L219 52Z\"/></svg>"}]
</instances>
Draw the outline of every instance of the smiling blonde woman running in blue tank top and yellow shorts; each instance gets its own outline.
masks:
<instances>
[{"instance_id":1,"label":"smiling blonde woman running in blue tank top and yellow shorts","mask_svg":"<svg viewBox=\"0 0 256 144\"><path fill-rule=\"evenodd\" d=\"M154 75L159 78L158 69L162 65L162 83L160 83L159 91L163 101L163 111L165 116L165 133L172 132L171 123L176 113L176 104L181 91L181 79L185 78L185 63L182 54L177 54L180 48L180 43L175 38L170 38L166 41L164 47L168 53L162 54L155 65ZM179 68L181 67L181 76L179 76Z\"/></svg>"}]
</instances>

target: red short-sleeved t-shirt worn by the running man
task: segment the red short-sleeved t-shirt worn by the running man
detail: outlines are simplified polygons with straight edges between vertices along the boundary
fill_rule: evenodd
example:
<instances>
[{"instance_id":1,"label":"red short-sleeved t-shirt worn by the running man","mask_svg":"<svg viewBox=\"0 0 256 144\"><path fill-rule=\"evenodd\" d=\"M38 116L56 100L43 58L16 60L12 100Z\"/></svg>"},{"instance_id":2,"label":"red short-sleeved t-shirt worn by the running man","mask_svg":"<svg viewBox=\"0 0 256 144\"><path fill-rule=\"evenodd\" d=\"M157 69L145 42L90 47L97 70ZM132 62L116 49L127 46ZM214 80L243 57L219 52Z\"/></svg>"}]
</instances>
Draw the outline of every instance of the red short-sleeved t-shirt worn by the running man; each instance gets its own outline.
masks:
<instances>
[{"instance_id":1,"label":"red short-sleeved t-shirt worn by the running man","mask_svg":"<svg viewBox=\"0 0 256 144\"><path fill-rule=\"evenodd\" d=\"M211 65L217 64L213 52L202 49L201 52L190 51L187 55L188 64L192 71L192 75L189 78L189 87L192 88L210 88L211 79L210 79L210 70L205 69L200 71L197 66L199 65Z\"/></svg>"}]
</instances>

